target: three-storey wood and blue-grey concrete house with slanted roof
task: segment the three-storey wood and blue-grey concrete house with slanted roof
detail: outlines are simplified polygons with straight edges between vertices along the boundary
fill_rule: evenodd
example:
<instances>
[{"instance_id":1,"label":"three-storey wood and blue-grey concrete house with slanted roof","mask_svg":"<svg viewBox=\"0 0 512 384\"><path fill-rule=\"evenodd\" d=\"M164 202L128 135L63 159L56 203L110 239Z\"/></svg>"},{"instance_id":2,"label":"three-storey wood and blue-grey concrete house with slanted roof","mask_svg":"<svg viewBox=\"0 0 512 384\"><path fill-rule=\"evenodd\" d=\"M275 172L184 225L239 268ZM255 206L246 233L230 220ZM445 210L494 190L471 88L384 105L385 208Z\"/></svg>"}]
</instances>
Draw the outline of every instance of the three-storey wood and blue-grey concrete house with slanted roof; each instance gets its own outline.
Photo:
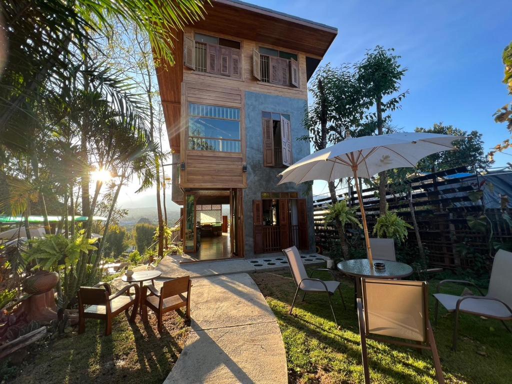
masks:
<instances>
[{"instance_id":1,"label":"three-storey wood and blue-grey concrete house with slanted roof","mask_svg":"<svg viewBox=\"0 0 512 384\"><path fill-rule=\"evenodd\" d=\"M214 0L157 68L173 154L172 199L193 259L314 249L311 186L277 186L307 156L307 82L337 29Z\"/></svg>"}]
</instances>

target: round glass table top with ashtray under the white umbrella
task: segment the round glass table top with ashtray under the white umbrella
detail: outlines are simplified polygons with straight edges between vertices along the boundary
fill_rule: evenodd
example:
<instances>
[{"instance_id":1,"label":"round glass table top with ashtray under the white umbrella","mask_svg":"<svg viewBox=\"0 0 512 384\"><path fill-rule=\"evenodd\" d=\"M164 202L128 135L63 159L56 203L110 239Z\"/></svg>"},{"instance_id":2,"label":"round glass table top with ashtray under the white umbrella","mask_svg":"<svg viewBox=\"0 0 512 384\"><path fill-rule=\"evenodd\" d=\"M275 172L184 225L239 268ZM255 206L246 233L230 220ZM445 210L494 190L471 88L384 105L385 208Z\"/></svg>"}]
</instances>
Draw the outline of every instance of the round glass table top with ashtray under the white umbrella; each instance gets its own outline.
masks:
<instances>
[{"instance_id":1,"label":"round glass table top with ashtray under the white umbrella","mask_svg":"<svg viewBox=\"0 0 512 384\"><path fill-rule=\"evenodd\" d=\"M368 259L345 260L337 264L339 271L358 278L398 279L413 273L410 265L391 260L373 259L374 263L384 263L386 269L370 268Z\"/></svg>"}]
</instances>

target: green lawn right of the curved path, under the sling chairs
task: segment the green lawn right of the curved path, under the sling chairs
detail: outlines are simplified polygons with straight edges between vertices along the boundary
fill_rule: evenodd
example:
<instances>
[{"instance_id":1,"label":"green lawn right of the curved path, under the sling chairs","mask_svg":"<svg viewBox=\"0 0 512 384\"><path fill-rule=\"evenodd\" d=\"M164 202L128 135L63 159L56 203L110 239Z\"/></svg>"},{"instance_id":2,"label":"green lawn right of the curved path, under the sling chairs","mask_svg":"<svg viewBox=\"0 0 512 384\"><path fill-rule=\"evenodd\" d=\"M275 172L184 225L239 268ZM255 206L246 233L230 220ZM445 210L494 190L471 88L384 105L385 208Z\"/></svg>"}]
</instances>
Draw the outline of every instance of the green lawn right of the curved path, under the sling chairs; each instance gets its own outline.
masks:
<instances>
[{"instance_id":1,"label":"green lawn right of the curved path, under the sling chairs","mask_svg":"<svg viewBox=\"0 0 512 384\"><path fill-rule=\"evenodd\" d=\"M313 268L308 268L308 273ZM332 280L330 274L315 277ZM289 270L254 273L252 278L278 318L288 360L288 376L295 383L361 383L361 365L357 312L353 306L353 283L340 278L347 305L343 309L336 292L333 307L341 329L333 321L325 295L309 294L298 301L293 316L288 315L296 286ZM437 282L430 284L435 291ZM443 292L460 294L462 287ZM302 299L302 295L300 296ZM434 298L430 303L431 321ZM440 309L439 324L434 329L446 382L505 384L512 382L512 335L499 321L460 316L458 351L452 352L452 316ZM369 340L369 365L372 383L437 383L430 351L381 344Z\"/></svg>"}]
</instances>

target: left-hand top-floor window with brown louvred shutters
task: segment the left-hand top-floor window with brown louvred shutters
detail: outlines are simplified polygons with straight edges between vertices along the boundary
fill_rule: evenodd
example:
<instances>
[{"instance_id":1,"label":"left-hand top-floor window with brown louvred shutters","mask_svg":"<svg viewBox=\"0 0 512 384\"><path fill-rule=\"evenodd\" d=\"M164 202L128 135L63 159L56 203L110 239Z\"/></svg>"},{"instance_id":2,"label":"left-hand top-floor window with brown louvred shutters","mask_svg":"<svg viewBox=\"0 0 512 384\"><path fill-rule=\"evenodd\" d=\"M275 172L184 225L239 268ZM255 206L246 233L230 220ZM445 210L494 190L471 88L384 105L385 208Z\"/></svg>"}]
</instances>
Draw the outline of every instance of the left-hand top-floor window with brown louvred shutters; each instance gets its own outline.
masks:
<instances>
[{"instance_id":1,"label":"left-hand top-floor window with brown louvred shutters","mask_svg":"<svg viewBox=\"0 0 512 384\"><path fill-rule=\"evenodd\" d=\"M185 38L185 66L198 72L241 77L240 42L196 33Z\"/></svg>"}]
</instances>

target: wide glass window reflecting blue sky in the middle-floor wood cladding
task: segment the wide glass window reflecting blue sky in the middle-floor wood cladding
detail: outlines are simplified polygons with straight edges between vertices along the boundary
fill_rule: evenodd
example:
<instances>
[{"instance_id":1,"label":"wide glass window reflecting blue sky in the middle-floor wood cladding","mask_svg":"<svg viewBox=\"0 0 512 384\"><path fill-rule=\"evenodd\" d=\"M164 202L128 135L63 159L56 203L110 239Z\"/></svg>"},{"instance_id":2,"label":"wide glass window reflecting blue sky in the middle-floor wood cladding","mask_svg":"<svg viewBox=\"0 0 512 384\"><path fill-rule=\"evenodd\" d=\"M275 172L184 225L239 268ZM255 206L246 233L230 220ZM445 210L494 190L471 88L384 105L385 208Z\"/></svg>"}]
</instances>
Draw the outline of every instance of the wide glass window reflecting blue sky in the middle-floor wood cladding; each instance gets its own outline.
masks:
<instances>
[{"instance_id":1,"label":"wide glass window reflecting blue sky in the middle-floor wood cladding","mask_svg":"<svg viewBox=\"0 0 512 384\"><path fill-rule=\"evenodd\" d=\"M189 103L188 148L196 151L240 152L240 110Z\"/></svg>"}]
</instances>

